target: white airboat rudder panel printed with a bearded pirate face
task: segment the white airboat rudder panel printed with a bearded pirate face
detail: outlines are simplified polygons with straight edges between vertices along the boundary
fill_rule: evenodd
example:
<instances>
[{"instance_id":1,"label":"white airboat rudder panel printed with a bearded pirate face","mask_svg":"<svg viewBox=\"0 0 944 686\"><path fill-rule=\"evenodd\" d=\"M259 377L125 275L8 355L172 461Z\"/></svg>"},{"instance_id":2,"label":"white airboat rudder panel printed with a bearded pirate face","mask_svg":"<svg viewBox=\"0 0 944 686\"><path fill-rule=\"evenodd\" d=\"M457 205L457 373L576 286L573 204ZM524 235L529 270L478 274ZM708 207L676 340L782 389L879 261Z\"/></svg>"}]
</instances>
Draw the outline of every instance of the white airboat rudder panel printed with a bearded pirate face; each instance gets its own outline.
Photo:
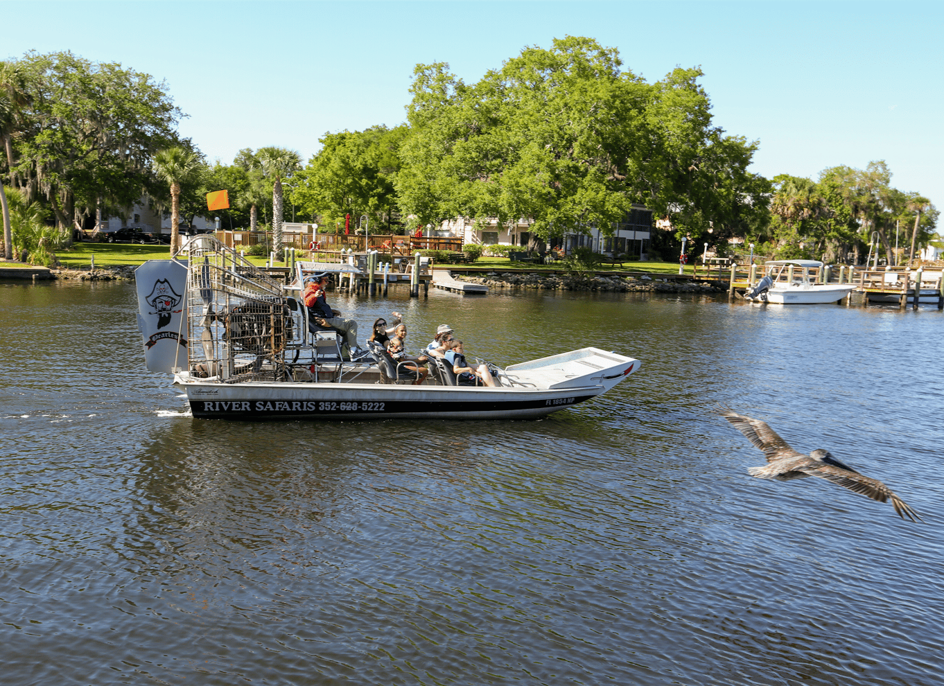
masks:
<instances>
[{"instance_id":1,"label":"white airboat rudder panel printed with a bearded pirate face","mask_svg":"<svg viewBox=\"0 0 944 686\"><path fill-rule=\"evenodd\" d=\"M134 270L144 363L152 372L187 368L187 265L149 259Z\"/></svg>"}]
</instances>

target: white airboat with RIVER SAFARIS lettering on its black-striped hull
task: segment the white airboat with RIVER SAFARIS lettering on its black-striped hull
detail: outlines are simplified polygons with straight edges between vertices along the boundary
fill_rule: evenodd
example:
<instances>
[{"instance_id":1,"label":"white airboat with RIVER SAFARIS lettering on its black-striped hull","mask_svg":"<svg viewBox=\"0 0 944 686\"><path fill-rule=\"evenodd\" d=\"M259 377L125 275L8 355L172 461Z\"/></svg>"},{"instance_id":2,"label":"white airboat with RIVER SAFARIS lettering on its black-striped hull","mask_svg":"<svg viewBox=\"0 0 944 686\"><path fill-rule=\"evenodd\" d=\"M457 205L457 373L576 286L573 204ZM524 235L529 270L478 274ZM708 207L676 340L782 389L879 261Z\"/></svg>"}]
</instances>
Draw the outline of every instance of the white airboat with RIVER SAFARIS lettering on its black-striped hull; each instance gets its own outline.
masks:
<instances>
[{"instance_id":1,"label":"white airboat with RIVER SAFARIS lettering on its black-striped hull","mask_svg":"<svg viewBox=\"0 0 944 686\"><path fill-rule=\"evenodd\" d=\"M188 263L151 260L135 280L147 368L174 374L194 417L533 418L605 393L640 366L585 347L492 365L496 387L452 385L449 374L413 385L413 376L379 356L346 360L336 333L309 326L304 305L289 294L297 287L265 276L211 236L187 248Z\"/></svg>"}]
</instances>

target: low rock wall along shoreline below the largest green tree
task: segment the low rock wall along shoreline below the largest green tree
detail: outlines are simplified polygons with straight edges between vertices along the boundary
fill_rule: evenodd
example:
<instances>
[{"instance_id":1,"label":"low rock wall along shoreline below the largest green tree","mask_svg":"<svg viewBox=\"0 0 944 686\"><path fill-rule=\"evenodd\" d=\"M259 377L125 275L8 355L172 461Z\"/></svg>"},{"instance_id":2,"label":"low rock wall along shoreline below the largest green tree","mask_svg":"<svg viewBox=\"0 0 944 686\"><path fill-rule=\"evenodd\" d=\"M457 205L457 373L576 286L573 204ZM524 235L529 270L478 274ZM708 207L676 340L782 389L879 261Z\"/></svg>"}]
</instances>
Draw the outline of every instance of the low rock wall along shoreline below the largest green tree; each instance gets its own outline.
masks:
<instances>
[{"instance_id":1,"label":"low rock wall along shoreline below the largest green tree","mask_svg":"<svg viewBox=\"0 0 944 686\"><path fill-rule=\"evenodd\" d=\"M488 272L483 276L453 275L453 278L468 283L480 283L494 289L523 288L546 291L603 291L611 293L658 292L658 293L727 293L728 287L719 281L708 283L695 281L659 280L658 277L642 276L590 276L582 274L515 274L512 272Z\"/></svg>"}]
</instances>

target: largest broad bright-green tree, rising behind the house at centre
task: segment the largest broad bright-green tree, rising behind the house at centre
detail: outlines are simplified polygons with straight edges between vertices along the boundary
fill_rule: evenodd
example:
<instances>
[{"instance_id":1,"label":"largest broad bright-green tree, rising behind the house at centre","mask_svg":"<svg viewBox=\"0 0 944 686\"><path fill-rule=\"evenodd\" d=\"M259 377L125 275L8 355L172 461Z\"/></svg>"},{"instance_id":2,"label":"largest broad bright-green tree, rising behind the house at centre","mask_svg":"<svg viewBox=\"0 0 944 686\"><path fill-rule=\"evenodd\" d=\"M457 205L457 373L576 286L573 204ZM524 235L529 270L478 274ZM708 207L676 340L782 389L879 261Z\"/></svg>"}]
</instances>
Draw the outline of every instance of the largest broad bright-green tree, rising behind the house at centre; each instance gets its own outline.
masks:
<instances>
[{"instance_id":1,"label":"largest broad bright-green tree, rising behind the house at centre","mask_svg":"<svg viewBox=\"0 0 944 686\"><path fill-rule=\"evenodd\" d=\"M615 49L575 37L526 48L471 86L446 64L419 65L401 212L529 218L545 238L609 233L633 205L689 234L760 221L769 186L746 171L756 143L711 126L700 70L648 84L620 65Z\"/></svg>"}]
</instances>

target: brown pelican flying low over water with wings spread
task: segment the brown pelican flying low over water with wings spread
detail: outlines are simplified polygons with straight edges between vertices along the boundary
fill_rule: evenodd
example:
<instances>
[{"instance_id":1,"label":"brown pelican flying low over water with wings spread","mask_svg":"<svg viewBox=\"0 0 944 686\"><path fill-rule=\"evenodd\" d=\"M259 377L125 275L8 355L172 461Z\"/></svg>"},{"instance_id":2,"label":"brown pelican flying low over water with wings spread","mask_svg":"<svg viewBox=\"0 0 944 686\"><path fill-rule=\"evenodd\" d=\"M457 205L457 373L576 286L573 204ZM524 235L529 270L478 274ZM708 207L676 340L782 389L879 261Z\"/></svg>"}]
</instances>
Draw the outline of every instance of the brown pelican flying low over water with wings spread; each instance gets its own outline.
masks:
<instances>
[{"instance_id":1,"label":"brown pelican flying low over water with wings spread","mask_svg":"<svg viewBox=\"0 0 944 686\"><path fill-rule=\"evenodd\" d=\"M802 477L825 478L836 486L848 488L880 503L890 499L902 519L907 517L912 522L916 521L916 517L921 519L918 512L905 505L902 498L893 494L884 483L859 474L848 464L836 460L828 450L814 450L809 455L803 455L791 448L766 422L751 419L721 405L717 406L717 412L767 457L767 465L748 469L751 477L775 478L778 481Z\"/></svg>"}]
</instances>

